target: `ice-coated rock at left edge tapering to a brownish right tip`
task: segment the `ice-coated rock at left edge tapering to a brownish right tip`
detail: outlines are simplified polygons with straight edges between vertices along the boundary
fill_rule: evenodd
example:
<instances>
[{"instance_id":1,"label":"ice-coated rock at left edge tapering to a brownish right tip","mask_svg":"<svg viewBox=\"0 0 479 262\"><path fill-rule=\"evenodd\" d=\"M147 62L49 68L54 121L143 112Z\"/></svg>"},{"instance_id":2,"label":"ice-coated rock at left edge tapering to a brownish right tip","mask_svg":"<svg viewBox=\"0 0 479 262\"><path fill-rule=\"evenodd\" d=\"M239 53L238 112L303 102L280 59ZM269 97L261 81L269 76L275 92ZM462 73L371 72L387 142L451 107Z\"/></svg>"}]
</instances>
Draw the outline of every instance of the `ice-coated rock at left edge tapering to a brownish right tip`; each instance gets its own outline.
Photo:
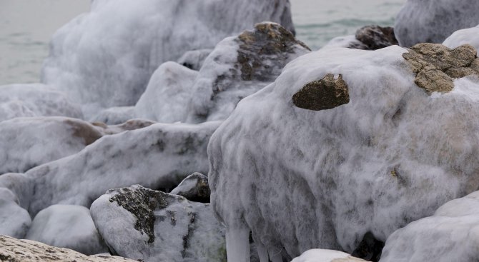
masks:
<instances>
[{"instance_id":1,"label":"ice-coated rock at left edge tapering to a brownish right tip","mask_svg":"<svg viewBox=\"0 0 479 262\"><path fill-rule=\"evenodd\" d=\"M0 176L78 153L102 137L88 122L58 116L0 121L0 133Z\"/></svg>"}]
</instances>

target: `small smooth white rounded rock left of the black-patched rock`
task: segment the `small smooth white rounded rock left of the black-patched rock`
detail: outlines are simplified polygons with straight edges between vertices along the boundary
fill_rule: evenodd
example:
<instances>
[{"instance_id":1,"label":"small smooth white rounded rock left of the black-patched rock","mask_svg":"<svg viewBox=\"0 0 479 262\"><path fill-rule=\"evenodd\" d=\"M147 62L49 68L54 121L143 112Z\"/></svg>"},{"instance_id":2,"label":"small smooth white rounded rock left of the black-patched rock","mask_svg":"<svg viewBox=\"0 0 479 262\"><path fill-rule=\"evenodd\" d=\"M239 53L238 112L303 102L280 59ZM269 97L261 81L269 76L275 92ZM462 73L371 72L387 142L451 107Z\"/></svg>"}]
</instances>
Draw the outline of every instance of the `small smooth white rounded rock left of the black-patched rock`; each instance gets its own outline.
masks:
<instances>
[{"instance_id":1,"label":"small smooth white rounded rock left of the black-patched rock","mask_svg":"<svg viewBox=\"0 0 479 262\"><path fill-rule=\"evenodd\" d=\"M85 255L108 252L84 206L52 205L36 214L25 239Z\"/></svg>"}]
</instances>

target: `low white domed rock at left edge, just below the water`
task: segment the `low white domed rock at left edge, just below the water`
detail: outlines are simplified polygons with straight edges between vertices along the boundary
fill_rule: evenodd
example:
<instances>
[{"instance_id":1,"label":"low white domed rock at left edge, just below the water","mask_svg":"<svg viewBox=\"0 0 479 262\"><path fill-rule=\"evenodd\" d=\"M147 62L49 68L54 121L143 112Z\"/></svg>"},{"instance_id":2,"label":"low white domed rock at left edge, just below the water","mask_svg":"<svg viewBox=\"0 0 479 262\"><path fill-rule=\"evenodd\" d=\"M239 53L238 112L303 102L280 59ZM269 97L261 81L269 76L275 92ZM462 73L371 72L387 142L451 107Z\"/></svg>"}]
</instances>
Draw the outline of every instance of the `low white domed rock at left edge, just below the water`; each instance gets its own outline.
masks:
<instances>
[{"instance_id":1,"label":"low white domed rock at left edge, just below the water","mask_svg":"<svg viewBox=\"0 0 479 262\"><path fill-rule=\"evenodd\" d=\"M0 86L0 121L21 116L70 116L82 111L65 94L44 84Z\"/></svg>"}]
</instances>

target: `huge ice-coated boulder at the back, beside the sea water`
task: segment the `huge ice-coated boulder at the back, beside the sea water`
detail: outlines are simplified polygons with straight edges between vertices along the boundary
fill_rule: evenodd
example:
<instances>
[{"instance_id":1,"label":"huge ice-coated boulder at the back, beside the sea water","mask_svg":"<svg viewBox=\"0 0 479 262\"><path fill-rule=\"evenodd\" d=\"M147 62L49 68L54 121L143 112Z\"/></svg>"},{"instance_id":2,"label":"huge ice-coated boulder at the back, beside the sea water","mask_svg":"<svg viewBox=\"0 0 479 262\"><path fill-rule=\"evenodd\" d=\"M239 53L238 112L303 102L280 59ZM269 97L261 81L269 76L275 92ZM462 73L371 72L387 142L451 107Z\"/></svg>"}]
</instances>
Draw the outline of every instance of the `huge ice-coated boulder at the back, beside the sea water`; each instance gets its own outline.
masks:
<instances>
[{"instance_id":1,"label":"huge ice-coated boulder at the back, beside the sea water","mask_svg":"<svg viewBox=\"0 0 479 262\"><path fill-rule=\"evenodd\" d=\"M132 106L153 71L261 21L294 31L288 0L97 0L56 31L42 78L97 108Z\"/></svg>"}]
</instances>

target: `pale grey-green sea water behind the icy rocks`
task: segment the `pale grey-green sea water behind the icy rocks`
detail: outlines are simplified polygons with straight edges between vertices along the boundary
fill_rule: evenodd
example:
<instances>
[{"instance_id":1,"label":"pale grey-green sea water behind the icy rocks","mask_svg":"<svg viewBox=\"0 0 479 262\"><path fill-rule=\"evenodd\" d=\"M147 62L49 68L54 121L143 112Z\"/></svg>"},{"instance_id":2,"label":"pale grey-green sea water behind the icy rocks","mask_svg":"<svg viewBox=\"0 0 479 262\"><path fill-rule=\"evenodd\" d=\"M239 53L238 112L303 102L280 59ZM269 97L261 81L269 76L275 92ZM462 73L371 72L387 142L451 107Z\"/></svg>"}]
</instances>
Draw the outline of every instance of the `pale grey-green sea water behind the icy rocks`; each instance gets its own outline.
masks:
<instances>
[{"instance_id":1,"label":"pale grey-green sea water behind the icy rocks","mask_svg":"<svg viewBox=\"0 0 479 262\"><path fill-rule=\"evenodd\" d=\"M40 81L54 31L91 0L0 0L0 85ZM132 0L133 1L133 0ZM246 1L246 0L239 0ZM370 24L390 26L405 0L290 0L297 38L312 50Z\"/></svg>"}]
</instances>

